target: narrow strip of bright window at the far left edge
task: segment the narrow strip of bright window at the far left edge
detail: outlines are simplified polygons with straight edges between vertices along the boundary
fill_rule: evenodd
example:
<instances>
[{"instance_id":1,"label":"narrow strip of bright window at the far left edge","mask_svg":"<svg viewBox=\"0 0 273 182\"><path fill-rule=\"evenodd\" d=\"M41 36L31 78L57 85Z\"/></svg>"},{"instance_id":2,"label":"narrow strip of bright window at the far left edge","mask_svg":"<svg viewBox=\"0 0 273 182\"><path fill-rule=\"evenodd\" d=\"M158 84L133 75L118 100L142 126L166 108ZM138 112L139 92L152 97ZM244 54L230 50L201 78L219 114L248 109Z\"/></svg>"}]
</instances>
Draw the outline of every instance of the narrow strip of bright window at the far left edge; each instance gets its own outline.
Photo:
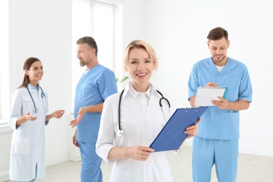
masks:
<instances>
[{"instance_id":1,"label":"narrow strip of bright window at the far left edge","mask_svg":"<svg viewBox=\"0 0 273 182\"><path fill-rule=\"evenodd\" d=\"M8 0L0 0L0 125L10 112L8 62Z\"/></svg>"}]
</instances>

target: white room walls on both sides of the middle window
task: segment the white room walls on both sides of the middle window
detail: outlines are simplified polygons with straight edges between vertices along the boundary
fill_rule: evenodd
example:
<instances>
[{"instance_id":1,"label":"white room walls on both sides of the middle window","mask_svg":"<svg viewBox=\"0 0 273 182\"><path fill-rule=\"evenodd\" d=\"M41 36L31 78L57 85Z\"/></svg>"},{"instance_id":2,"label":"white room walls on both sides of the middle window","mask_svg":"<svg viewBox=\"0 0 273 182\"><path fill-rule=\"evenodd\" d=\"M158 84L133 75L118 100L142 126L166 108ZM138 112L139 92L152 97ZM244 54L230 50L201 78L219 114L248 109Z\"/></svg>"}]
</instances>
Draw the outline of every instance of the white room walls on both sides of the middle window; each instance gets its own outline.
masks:
<instances>
[{"instance_id":1,"label":"white room walls on both sides of the middle window","mask_svg":"<svg viewBox=\"0 0 273 182\"><path fill-rule=\"evenodd\" d=\"M41 59L41 85L49 93L50 112L65 109L45 131L48 165L68 159L67 115L72 112L72 0L10 0L10 92L22 82L25 59ZM123 50L134 39L151 43L160 58L152 82L166 92L172 107L189 106L188 76L195 62L209 57L207 34L221 26L230 34L228 55L248 66L253 103L241 111L241 152L273 156L273 88L268 64L273 38L273 3L261 1L126 0L123 4ZM120 65L122 66L122 65ZM258 97L260 96L260 97ZM186 143L191 145L190 141Z\"/></svg>"}]
</instances>

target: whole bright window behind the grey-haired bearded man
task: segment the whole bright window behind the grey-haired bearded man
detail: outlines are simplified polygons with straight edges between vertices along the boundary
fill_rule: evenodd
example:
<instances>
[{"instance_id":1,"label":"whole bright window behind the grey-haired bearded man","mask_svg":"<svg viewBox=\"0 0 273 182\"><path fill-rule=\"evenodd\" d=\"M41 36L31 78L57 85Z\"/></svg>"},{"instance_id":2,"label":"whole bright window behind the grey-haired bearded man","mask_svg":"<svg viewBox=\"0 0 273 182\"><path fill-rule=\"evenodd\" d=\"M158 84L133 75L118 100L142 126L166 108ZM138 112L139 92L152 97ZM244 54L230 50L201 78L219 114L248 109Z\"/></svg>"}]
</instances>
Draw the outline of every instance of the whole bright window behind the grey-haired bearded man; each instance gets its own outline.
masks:
<instances>
[{"instance_id":1,"label":"whole bright window behind the grey-haired bearded man","mask_svg":"<svg viewBox=\"0 0 273 182\"><path fill-rule=\"evenodd\" d=\"M73 1L72 8L72 95L85 68L76 58L76 41L92 36L98 46L98 61L123 77L123 6L121 3ZM73 100L73 99L72 99Z\"/></svg>"}]
</instances>

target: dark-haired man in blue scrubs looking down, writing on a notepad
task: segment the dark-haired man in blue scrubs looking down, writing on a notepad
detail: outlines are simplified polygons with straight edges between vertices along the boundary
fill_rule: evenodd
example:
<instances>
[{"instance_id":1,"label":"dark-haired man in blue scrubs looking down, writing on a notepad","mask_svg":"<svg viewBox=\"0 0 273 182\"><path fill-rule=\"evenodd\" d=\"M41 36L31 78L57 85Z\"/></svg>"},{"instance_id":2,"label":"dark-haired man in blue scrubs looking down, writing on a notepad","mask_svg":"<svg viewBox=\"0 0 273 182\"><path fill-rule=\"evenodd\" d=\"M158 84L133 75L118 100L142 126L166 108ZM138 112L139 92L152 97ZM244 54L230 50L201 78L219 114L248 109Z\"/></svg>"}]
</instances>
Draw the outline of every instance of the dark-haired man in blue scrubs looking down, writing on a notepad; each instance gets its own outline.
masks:
<instances>
[{"instance_id":1,"label":"dark-haired man in blue scrubs looking down, writing on a notepad","mask_svg":"<svg viewBox=\"0 0 273 182\"><path fill-rule=\"evenodd\" d=\"M193 139L193 181L211 181L216 167L219 182L235 182L237 176L239 111L248 109L252 86L246 65L227 57L228 31L216 27L209 31L207 45L211 57L193 66L188 81L190 105L194 106L197 87L228 87L225 99L213 101L199 123Z\"/></svg>"}]
</instances>

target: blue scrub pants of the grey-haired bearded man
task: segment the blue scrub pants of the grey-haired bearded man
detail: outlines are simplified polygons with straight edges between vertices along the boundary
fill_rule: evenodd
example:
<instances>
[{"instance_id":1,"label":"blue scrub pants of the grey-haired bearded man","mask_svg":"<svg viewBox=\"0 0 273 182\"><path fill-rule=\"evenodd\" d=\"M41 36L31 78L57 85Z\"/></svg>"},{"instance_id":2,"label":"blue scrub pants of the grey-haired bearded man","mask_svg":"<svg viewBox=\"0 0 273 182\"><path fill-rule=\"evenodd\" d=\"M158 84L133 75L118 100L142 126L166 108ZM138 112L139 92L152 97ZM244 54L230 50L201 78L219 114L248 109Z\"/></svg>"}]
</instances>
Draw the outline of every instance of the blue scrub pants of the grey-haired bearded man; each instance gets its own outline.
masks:
<instances>
[{"instance_id":1,"label":"blue scrub pants of the grey-haired bearded man","mask_svg":"<svg viewBox=\"0 0 273 182\"><path fill-rule=\"evenodd\" d=\"M82 160L80 180L82 182L102 182L102 158L99 158L95 143L78 141Z\"/></svg>"}]
</instances>

